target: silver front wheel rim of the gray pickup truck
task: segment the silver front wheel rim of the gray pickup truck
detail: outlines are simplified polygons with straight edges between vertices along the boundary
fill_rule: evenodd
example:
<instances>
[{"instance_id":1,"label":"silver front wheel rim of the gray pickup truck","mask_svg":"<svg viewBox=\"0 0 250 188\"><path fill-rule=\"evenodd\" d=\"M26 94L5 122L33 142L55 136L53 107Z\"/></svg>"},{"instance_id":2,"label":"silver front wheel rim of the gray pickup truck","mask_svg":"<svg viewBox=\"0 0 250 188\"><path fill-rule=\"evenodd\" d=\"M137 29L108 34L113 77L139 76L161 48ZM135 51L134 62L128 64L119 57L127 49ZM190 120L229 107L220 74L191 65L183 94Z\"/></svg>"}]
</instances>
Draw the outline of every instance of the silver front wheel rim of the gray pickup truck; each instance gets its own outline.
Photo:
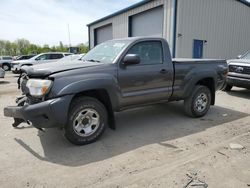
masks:
<instances>
[{"instance_id":1,"label":"silver front wheel rim of the gray pickup truck","mask_svg":"<svg viewBox=\"0 0 250 188\"><path fill-rule=\"evenodd\" d=\"M92 109L86 108L77 113L73 121L73 130L81 137L92 135L100 125L99 113Z\"/></svg>"}]
</instances>

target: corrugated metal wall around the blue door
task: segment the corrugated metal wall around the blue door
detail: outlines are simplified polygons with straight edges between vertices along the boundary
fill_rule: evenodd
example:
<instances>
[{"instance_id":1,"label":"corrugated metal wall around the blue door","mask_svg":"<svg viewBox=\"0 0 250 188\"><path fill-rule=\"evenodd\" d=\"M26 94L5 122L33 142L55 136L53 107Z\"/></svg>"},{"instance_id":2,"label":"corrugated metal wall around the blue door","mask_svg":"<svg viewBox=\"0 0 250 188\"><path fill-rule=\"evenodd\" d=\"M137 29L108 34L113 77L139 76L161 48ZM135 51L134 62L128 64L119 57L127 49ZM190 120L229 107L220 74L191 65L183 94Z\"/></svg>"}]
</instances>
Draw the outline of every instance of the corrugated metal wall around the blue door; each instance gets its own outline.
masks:
<instances>
[{"instance_id":1,"label":"corrugated metal wall around the blue door","mask_svg":"<svg viewBox=\"0 0 250 188\"><path fill-rule=\"evenodd\" d=\"M207 41L203 58L235 58L250 49L250 7L235 0L178 0L176 57L192 57L193 39Z\"/></svg>"}]
</instances>

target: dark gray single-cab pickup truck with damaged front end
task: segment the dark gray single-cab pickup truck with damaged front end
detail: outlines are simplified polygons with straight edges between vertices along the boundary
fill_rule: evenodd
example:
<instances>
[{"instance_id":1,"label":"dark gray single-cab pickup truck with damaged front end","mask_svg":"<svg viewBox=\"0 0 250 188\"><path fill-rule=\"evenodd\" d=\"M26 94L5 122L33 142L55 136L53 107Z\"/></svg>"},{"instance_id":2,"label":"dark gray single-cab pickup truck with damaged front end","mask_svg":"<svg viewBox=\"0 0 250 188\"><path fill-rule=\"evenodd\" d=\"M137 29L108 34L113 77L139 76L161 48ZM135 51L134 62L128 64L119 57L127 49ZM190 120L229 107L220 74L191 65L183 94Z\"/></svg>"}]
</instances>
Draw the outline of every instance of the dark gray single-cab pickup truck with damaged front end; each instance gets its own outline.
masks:
<instances>
[{"instance_id":1,"label":"dark gray single-cab pickup truck with damaged front end","mask_svg":"<svg viewBox=\"0 0 250 188\"><path fill-rule=\"evenodd\" d=\"M83 145L96 141L105 127L115 128L114 112L133 107L184 100L188 115L204 116L228 67L225 60L172 60L166 40L144 37L104 42L82 62L22 71L24 96L4 109L13 126L61 127L70 142Z\"/></svg>"}]
</instances>

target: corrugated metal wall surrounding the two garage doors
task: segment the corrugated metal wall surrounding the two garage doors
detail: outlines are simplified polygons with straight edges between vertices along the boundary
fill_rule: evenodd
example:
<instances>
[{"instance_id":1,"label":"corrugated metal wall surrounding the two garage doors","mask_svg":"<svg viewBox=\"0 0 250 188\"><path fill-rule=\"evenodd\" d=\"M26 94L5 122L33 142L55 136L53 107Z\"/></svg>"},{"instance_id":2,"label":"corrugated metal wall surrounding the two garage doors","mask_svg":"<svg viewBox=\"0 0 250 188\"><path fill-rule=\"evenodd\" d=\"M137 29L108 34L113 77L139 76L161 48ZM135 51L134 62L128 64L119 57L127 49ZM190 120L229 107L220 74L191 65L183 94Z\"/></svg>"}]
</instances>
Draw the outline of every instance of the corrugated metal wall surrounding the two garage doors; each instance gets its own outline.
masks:
<instances>
[{"instance_id":1,"label":"corrugated metal wall surrounding the two garage doors","mask_svg":"<svg viewBox=\"0 0 250 188\"><path fill-rule=\"evenodd\" d=\"M94 29L95 28L112 23L113 38L128 37L128 18L129 18L129 16L143 12L145 10L149 10L151 8L154 8L154 7L157 7L160 5L164 5L164 12L165 12L165 11L167 11L167 8L166 8L167 5L166 5L166 3L164 3L166 1L167 0L153 0L145 5L142 5L140 7L135 8L135 9L129 10L125 13L114 16L114 17L109 18L105 21L91 25L90 26L90 47L92 48L94 46ZM164 15L165 15L165 13L164 13ZM167 20L164 18L164 23L166 24L166 22L167 22ZM168 37L165 27L163 30L163 36L165 38Z\"/></svg>"}]
</instances>

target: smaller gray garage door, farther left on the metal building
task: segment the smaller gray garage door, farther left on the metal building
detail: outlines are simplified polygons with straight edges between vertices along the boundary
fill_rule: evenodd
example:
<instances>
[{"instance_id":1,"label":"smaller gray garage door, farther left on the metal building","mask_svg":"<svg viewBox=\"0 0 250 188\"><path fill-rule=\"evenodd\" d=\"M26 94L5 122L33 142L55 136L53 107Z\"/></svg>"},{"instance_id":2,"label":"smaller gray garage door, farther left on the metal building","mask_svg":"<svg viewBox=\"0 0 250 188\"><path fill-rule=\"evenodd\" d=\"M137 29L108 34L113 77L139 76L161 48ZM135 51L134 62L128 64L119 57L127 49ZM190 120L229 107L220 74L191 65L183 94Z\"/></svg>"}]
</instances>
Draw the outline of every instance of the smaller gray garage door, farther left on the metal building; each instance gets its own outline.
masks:
<instances>
[{"instance_id":1,"label":"smaller gray garage door, farther left on the metal building","mask_svg":"<svg viewBox=\"0 0 250 188\"><path fill-rule=\"evenodd\" d=\"M95 45L113 39L112 24L95 29Z\"/></svg>"}]
</instances>

